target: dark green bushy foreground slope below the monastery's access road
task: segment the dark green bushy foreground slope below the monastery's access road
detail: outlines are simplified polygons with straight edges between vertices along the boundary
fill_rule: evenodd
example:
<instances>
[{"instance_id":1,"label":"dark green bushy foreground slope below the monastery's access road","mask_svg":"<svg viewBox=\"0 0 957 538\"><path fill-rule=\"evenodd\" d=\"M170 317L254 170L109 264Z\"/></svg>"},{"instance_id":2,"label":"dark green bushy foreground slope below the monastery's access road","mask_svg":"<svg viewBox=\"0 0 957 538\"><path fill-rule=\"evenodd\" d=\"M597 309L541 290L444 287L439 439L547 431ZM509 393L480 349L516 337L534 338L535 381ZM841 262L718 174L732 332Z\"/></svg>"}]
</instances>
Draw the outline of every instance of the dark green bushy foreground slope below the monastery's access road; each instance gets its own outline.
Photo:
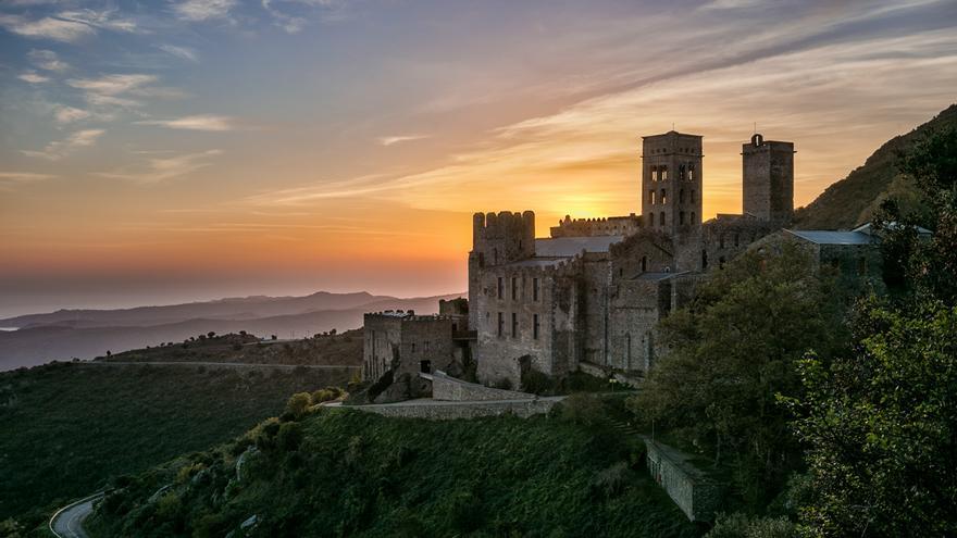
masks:
<instances>
[{"instance_id":1,"label":"dark green bushy foreground slope below the monastery's access road","mask_svg":"<svg viewBox=\"0 0 957 538\"><path fill-rule=\"evenodd\" d=\"M561 414L319 409L121 481L86 525L142 537L225 536L243 522L233 536L698 536L626 463L620 436Z\"/></svg>"}]
</instances>

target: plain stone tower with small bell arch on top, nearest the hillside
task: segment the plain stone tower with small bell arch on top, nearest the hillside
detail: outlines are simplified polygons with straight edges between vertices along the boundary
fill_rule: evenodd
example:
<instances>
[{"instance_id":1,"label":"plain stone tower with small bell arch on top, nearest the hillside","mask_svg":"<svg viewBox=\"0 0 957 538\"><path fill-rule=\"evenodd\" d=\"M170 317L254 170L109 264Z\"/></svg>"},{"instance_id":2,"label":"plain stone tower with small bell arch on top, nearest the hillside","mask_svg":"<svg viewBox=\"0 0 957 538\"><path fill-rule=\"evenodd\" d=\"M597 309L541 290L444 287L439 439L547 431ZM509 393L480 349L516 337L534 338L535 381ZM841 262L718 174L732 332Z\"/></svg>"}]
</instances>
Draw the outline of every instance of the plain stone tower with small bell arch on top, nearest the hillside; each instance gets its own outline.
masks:
<instances>
[{"instance_id":1,"label":"plain stone tower with small bell arch on top, nearest the hillside","mask_svg":"<svg viewBox=\"0 0 957 538\"><path fill-rule=\"evenodd\" d=\"M787 225L794 216L794 142L765 140L759 134L741 148L744 213Z\"/></svg>"}]
</instances>

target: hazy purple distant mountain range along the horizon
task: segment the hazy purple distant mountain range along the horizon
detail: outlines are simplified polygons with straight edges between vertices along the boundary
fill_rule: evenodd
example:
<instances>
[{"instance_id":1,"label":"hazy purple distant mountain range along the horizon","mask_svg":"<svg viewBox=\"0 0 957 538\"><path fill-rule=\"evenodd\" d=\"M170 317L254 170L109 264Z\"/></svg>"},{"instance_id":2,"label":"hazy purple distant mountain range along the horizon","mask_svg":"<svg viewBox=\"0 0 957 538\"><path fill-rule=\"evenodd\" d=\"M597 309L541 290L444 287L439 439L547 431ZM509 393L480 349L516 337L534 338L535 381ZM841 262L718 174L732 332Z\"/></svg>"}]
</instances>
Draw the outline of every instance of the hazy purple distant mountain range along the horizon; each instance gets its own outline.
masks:
<instances>
[{"instance_id":1,"label":"hazy purple distant mountain range along the horizon","mask_svg":"<svg viewBox=\"0 0 957 538\"><path fill-rule=\"evenodd\" d=\"M0 371L52 360L92 359L190 336L247 333L302 338L362 326L362 314L389 309L438 312L440 299L464 293L400 299L366 292L320 291L306 297L246 297L121 310L59 310L0 320Z\"/></svg>"}]
</instances>

